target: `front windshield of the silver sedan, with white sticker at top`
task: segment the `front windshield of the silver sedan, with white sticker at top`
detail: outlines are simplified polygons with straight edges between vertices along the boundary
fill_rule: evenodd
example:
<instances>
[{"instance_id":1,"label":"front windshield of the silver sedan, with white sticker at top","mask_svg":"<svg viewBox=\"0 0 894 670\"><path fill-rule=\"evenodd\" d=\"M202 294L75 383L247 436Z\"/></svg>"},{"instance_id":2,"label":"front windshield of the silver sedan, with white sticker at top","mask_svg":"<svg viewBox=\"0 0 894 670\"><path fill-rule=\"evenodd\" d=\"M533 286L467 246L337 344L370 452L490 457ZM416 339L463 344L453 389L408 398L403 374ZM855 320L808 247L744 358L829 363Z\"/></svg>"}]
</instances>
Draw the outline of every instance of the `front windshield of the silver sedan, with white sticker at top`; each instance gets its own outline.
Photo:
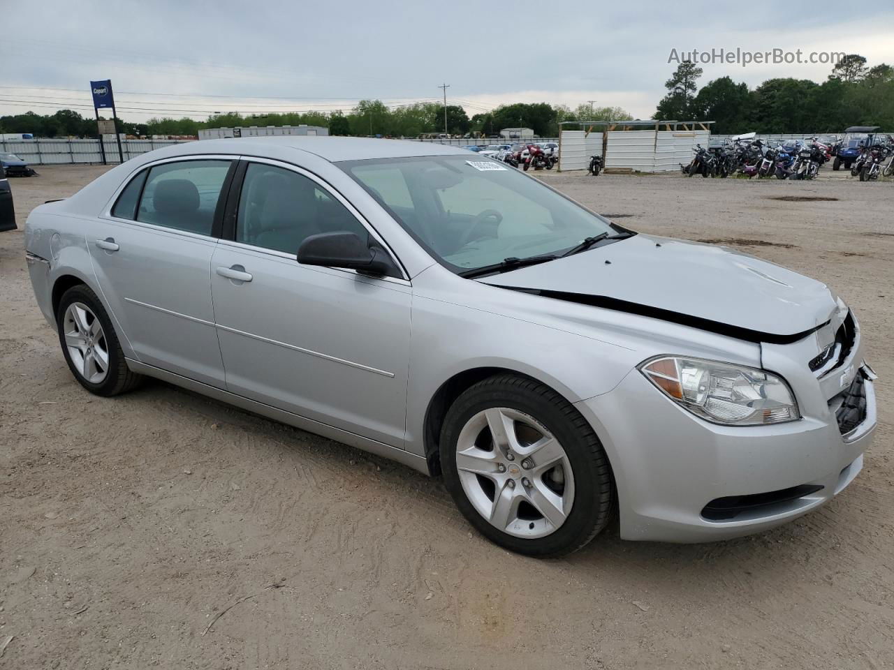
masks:
<instances>
[{"instance_id":1,"label":"front windshield of the silver sedan, with white sticker at top","mask_svg":"<svg viewBox=\"0 0 894 670\"><path fill-rule=\"evenodd\" d=\"M453 272L557 255L620 228L515 168L462 155L340 163Z\"/></svg>"}]
</instances>

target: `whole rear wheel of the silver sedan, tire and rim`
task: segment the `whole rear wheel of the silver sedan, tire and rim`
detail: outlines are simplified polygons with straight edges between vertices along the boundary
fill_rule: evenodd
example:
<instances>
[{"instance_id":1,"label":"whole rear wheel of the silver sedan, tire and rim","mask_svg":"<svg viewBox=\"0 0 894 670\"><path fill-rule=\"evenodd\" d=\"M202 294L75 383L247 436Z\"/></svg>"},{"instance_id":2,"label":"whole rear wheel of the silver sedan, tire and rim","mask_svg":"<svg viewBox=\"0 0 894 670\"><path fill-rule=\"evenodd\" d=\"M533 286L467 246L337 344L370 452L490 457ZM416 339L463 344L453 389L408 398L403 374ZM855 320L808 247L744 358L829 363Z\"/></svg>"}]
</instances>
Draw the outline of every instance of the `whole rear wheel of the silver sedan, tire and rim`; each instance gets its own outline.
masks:
<instances>
[{"instance_id":1,"label":"whole rear wheel of the silver sedan, tire and rim","mask_svg":"<svg viewBox=\"0 0 894 670\"><path fill-rule=\"evenodd\" d=\"M115 396L142 379L124 360L112 322L96 294L80 284L59 301L56 326L63 356L74 378L97 396Z\"/></svg>"}]
</instances>

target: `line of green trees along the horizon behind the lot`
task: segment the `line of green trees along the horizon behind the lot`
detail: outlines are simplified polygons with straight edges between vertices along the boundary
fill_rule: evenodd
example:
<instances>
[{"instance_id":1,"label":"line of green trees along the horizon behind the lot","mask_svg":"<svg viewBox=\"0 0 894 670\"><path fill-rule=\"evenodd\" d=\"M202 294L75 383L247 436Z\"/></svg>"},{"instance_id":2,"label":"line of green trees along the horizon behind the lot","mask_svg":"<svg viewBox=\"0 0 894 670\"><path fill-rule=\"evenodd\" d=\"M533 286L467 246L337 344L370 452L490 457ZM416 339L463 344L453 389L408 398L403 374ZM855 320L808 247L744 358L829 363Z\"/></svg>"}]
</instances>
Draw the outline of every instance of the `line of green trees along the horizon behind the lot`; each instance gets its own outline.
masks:
<instances>
[{"instance_id":1,"label":"line of green trees along the horizon behind the lot","mask_svg":"<svg viewBox=\"0 0 894 670\"><path fill-rule=\"evenodd\" d=\"M764 81L751 89L730 77L709 81L701 89L702 68L680 63L665 82L668 93L655 118L662 121L714 121L712 131L727 135L761 133L840 132L852 125L894 130L894 68L887 63L868 67L866 59L848 54L822 83L795 78ZM620 107L548 103L500 105L469 117L460 105L447 105L447 132L455 136L496 136L504 128L530 128L540 137L556 137L562 121L626 121L633 117ZM436 103L388 106L381 100L361 100L350 111L212 114L205 121L156 118L146 123L118 119L128 135L198 135L203 128L235 126L323 126L332 135L382 135L416 138L444 131L444 106ZM36 137L96 137L97 122L70 109L53 114L28 112L0 116L0 132Z\"/></svg>"}]
</instances>

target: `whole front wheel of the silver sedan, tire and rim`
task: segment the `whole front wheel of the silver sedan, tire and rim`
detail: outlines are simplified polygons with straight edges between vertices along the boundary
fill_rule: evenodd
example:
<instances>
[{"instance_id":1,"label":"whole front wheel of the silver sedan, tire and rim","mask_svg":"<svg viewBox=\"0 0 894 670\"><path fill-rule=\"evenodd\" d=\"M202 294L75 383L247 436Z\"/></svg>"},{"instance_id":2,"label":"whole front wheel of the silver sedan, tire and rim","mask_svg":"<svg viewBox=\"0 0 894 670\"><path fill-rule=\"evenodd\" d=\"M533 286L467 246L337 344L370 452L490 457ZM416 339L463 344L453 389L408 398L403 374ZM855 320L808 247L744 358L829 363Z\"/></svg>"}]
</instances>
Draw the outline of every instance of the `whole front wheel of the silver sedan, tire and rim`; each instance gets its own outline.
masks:
<instances>
[{"instance_id":1,"label":"whole front wheel of the silver sedan, tire and rim","mask_svg":"<svg viewBox=\"0 0 894 670\"><path fill-rule=\"evenodd\" d=\"M580 549L608 522L608 458L574 406L534 380L502 374L453 403L441 432L457 507L497 544L533 557Z\"/></svg>"}]
</instances>

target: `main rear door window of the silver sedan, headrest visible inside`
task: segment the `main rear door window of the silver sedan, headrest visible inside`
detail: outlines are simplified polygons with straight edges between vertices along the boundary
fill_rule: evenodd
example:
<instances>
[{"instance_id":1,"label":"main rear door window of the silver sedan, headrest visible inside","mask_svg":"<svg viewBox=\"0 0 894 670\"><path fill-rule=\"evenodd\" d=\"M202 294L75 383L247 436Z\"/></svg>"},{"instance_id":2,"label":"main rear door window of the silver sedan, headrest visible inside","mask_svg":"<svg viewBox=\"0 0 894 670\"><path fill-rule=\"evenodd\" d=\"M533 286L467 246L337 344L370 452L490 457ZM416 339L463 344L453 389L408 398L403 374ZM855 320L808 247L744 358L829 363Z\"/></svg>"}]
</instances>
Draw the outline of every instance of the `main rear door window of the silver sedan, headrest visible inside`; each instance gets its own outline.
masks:
<instances>
[{"instance_id":1,"label":"main rear door window of the silver sedan, headrest visible inside","mask_svg":"<svg viewBox=\"0 0 894 670\"><path fill-rule=\"evenodd\" d=\"M150 168L139 199L137 221L211 235L230 163L182 161Z\"/></svg>"}]
</instances>

